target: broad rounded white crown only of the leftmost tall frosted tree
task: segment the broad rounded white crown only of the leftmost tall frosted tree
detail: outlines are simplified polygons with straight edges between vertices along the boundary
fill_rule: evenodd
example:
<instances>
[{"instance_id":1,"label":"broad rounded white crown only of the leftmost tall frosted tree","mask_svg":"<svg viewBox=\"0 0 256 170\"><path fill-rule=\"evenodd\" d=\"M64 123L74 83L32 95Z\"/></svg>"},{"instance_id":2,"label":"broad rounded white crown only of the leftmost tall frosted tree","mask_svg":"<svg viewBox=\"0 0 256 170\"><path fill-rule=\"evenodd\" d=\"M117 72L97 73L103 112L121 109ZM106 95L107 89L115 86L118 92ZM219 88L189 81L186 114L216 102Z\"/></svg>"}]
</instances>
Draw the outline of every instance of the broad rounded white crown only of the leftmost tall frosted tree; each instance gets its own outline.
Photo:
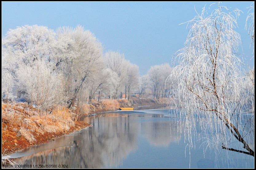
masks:
<instances>
[{"instance_id":1,"label":"broad rounded white crown only of the leftmost tall frosted tree","mask_svg":"<svg viewBox=\"0 0 256 170\"><path fill-rule=\"evenodd\" d=\"M53 30L45 26L25 25L10 29L2 38L2 46L6 55L14 59L15 66L30 65L36 60L49 60L54 36Z\"/></svg>"}]
</instances>

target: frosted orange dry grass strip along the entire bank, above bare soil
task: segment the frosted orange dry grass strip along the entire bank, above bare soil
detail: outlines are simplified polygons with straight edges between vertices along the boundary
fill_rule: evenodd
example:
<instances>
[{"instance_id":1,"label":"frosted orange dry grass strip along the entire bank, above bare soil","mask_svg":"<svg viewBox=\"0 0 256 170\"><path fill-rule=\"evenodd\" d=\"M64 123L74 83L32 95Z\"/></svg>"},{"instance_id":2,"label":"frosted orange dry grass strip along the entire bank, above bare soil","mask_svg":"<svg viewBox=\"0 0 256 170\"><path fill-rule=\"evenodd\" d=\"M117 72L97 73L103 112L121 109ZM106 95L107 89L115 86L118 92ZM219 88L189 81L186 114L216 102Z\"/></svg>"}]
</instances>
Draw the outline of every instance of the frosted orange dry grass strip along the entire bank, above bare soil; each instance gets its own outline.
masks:
<instances>
[{"instance_id":1,"label":"frosted orange dry grass strip along the entire bank, above bare soil","mask_svg":"<svg viewBox=\"0 0 256 170\"><path fill-rule=\"evenodd\" d=\"M158 100L130 98L119 100L93 100L92 104L83 104L81 107L67 109L65 107L55 108L51 113L44 112L39 115L36 108L25 103L2 102L2 136L24 137L29 142L36 141L35 135L44 133L59 133L68 131L75 126L75 121L82 116L92 113L115 111L120 107L134 107L136 105L167 104L166 98ZM3 143L3 140L2 140Z\"/></svg>"}]
</instances>

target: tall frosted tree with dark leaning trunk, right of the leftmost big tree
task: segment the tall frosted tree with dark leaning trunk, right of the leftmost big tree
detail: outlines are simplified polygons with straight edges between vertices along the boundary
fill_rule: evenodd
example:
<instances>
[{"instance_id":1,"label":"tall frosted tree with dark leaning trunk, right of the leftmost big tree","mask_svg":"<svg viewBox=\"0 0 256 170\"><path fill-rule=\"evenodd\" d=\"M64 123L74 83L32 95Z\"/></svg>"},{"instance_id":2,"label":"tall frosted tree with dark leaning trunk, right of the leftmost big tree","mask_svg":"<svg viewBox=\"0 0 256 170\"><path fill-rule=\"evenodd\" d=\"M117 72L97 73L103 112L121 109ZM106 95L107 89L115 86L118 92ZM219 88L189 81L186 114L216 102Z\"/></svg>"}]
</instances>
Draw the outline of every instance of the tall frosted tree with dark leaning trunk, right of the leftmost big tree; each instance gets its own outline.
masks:
<instances>
[{"instance_id":1,"label":"tall frosted tree with dark leaning trunk, right of the leftmost big tree","mask_svg":"<svg viewBox=\"0 0 256 170\"><path fill-rule=\"evenodd\" d=\"M76 28L62 27L57 30L56 51L53 60L56 69L67 77L66 89L70 105L79 97L88 95L86 83L103 68L103 47L89 31L78 25ZM82 93L85 92L85 93Z\"/></svg>"}]
</instances>

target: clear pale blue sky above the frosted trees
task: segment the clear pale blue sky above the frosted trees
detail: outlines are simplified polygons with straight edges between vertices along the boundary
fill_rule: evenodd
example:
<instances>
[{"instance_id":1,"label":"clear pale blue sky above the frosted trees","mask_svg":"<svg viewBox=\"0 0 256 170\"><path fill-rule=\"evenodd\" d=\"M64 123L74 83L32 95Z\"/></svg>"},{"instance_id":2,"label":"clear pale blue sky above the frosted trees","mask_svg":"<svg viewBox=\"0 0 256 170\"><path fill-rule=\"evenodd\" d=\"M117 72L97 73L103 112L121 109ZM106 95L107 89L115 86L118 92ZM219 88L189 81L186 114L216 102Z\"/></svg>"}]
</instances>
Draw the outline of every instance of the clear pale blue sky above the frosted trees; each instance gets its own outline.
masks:
<instances>
[{"instance_id":1,"label":"clear pale blue sky above the frosted trees","mask_svg":"<svg viewBox=\"0 0 256 170\"><path fill-rule=\"evenodd\" d=\"M147 73L153 65L171 63L176 51L184 46L186 24L206 5L218 2L2 2L2 37L9 29L23 25L43 25L56 30L77 25L90 30L108 50L124 53L125 59ZM250 36L245 30L252 2L222 2L230 10L242 10L236 31L240 33L239 53L245 64L254 66ZM209 13L217 5L208 9ZM254 12L254 11L253 11Z\"/></svg>"}]
</instances>

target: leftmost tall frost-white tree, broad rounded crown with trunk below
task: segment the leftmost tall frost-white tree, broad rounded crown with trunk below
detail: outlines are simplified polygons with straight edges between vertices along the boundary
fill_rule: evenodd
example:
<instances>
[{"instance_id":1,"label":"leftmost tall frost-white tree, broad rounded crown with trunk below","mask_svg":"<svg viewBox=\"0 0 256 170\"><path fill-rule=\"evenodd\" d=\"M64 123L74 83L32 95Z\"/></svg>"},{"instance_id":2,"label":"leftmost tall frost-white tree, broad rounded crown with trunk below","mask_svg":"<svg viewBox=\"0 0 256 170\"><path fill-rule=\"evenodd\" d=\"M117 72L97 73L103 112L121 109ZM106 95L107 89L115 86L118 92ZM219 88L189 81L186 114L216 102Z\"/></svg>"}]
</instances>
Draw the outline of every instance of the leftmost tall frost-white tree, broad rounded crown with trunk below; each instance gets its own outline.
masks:
<instances>
[{"instance_id":1,"label":"leftmost tall frost-white tree, broad rounded crown with trunk below","mask_svg":"<svg viewBox=\"0 0 256 170\"><path fill-rule=\"evenodd\" d=\"M27 93L17 88L20 87L18 75L23 71L20 66L32 67L37 61L49 63L54 35L45 26L25 25L10 29L2 38L2 70L8 70L13 76L12 83L17 85L15 90L18 91L18 97L21 93Z\"/></svg>"}]
</instances>

